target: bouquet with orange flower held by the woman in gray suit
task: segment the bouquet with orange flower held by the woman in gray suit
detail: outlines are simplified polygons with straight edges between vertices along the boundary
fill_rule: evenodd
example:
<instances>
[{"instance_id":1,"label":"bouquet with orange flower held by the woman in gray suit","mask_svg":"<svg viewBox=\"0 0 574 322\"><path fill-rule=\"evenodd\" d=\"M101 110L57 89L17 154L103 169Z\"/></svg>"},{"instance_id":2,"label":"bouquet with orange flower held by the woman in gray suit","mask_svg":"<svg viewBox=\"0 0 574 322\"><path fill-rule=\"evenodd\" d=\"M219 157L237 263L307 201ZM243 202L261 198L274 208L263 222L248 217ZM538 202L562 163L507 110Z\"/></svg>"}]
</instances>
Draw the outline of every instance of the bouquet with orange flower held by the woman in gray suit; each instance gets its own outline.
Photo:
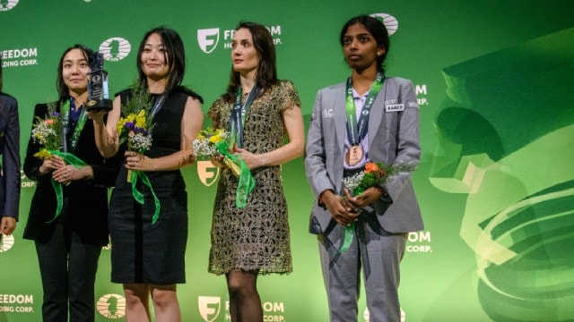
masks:
<instances>
[{"instance_id":1,"label":"bouquet with orange flower held by the woman in gray suit","mask_svg":"<svg viewBox=\"0 0 574 322\"><path fill-rule=\"evenodd\" d=\"M396 174L412 172L414 169L416 166L408 163L385 166L382 163L369 162L365 165L365 170L344 178L343 182L344 186L352 190L354 196L357 196L370 187L380 187L389 182Z\"/></svg>"}]
</instances>

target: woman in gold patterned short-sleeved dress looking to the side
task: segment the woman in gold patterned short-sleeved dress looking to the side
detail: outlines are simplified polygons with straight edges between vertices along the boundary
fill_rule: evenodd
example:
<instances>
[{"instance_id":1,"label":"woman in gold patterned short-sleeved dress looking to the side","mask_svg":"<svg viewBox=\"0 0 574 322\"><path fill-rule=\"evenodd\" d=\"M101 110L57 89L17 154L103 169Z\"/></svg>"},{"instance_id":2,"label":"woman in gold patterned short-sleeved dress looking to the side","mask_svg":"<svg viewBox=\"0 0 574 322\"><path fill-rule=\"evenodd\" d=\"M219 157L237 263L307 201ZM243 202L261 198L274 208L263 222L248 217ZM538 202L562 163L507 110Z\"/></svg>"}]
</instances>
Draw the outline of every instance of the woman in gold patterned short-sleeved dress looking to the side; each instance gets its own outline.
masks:
<instances>
[{"instance_id":1,"label":"woman in gold patterned short-sleeved dress looking to the side","mask_svg":"<svg viewBox=\"0 0 574 322\"><path fill-rule=\"evenodd\" d=\"M230 149L245 161L256 183L247 206L238 208L238 178L223 168L213 207L209 271L226 276L231 321L262 321L257 275L292 271L280 165L302 155L305 133L296 89L288 80L277 80L269 31L241 22L231 47L230 83L208 116L213 128L230 130L235 138Z\"/></svg>"}]
</instances>

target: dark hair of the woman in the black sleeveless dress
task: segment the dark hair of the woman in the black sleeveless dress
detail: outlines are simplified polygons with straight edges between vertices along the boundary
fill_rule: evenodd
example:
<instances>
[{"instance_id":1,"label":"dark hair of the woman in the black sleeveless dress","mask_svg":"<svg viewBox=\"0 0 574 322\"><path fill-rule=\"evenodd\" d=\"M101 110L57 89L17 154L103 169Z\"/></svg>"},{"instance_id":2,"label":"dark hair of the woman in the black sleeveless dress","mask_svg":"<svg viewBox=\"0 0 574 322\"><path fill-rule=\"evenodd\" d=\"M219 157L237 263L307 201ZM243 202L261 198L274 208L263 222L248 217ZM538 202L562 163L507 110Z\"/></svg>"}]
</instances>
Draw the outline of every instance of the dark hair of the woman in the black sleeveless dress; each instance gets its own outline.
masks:
<instances>
[{"instance_id":1,"label":"dark hair of the woman in the black sleeveless dress","mask_svg":"<svg viewBox=\"0 0 574 322\"><path fill-rule=\"evenodd\" d=\"M181 81L183 81L186 72L186 51L183 46L183 41L176 30L161 26L145 33L139 50L137 51L136 64L138 77L147 88L147 77L142 70L142 52L143 47L145 47L145 41L154 33L160 36L163 47L165 48L163 58L169 66L168 84L166 85L165 91L170 92L170 90L181 85Z\"/></svg>"}]
</instances>

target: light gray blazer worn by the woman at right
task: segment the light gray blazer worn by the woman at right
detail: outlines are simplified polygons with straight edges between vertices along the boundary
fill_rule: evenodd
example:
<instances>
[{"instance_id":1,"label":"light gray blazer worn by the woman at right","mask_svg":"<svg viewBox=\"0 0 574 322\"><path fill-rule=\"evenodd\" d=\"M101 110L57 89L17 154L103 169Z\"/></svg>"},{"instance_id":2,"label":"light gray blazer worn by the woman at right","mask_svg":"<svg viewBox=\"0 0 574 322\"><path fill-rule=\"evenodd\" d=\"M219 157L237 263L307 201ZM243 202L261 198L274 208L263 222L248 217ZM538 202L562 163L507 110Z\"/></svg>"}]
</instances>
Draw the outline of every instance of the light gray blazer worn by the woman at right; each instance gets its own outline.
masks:
<instances>
[{"instance_id":1,"label":"light gray blazer worn by the woman at right","mask_svg":"<svg viewBox=\"0 0 574 322\"><path fill-rule=\"evenodd\" d=\"M402 111L400 104L404 106ZM399 106L399 110L390 111L393 106ZM310 233L324 233L328 225L333 225L331 214L319 203L318 197L329 189L344 194L345 135L345 83L320 89L311 115L305 150L307 179L317 199L311 212ZM370 161L384 165L419 163L419 105L410 80L385 80L370 109L368 135ZM389 233L422 230L421 210L413 191L411 173L396 175L384 189L388 196L374 204L381 227Z\"/></svg>"}]
</instances>

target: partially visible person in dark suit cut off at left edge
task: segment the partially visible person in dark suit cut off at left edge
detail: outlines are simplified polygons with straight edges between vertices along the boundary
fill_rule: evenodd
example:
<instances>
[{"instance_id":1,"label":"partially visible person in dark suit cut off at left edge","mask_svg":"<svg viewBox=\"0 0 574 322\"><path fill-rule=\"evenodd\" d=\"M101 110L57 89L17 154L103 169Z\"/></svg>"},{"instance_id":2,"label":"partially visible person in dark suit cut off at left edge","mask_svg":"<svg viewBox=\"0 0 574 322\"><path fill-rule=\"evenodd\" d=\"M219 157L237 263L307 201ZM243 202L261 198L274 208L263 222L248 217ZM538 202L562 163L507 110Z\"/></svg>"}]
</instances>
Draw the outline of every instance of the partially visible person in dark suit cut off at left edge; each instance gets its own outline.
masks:
<instances>
[{"instance_id":1,"label":"partially visible person in dark suit cut off at left edge","mask_svg":"<svg viewBox=\"0 0 574 322\"><path fill-rule=\"evenodd\" d=\"M2 57L0 57L0 236L10 235L18 221L20 201L20 124L18 101L2 92Z\"/></svg>"}]
</instances>

